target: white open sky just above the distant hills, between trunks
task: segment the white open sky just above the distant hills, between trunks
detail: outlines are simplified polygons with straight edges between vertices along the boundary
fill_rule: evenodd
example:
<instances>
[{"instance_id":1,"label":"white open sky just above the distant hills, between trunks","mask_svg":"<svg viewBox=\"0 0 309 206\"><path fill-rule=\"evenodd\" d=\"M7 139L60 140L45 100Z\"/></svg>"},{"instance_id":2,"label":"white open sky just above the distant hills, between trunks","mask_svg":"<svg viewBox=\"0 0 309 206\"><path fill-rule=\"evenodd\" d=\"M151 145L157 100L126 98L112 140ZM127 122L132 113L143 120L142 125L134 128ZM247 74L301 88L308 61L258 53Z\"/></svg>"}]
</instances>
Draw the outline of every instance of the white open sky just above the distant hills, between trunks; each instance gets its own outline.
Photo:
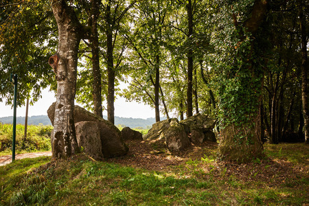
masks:
<instances>
[{"instance_id":1,"label":"white open sky just above the distant hills, between trunks","mask_svg":"<svg viewBox=\"0 0 309 206\"><path fill-rule=\"evenodd\" d=\"M42 91L42 98L34 103L33 106L29 106L28 117L47 115L47 109L53 102L56 102L54 92L49 91L49 89L44 89ZM103 105L106 107L106 102L103 102ZM103 111L103 115L107 115L106 110ZM4 100L0 102L0 117L9 116L13 116L13 108L11 106L5 106ZM25 106L16 108L16 116L25 117ZM155 109L150 108L149 105L139 104L137 102L126 102L124 98L117 97L115 100L115 116L147 119L149 117L155 117Z\"/></svg>"}]
</instances>

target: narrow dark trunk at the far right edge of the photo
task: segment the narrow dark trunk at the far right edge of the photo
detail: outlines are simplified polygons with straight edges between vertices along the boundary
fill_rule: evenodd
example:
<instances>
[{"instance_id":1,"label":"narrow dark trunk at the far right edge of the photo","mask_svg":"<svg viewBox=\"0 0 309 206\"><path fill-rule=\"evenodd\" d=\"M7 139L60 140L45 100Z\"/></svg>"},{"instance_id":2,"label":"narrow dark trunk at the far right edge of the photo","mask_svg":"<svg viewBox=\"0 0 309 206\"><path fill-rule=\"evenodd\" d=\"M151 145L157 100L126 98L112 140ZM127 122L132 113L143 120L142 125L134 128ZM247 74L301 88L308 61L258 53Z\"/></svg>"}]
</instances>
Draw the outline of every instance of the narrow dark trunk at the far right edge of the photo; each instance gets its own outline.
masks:
<instances>
[{"instance_id":1,"label":"narrow dark trunk at the far right edge of the photo","mask_svg":"<svg viewBox=\"0 0 309 206\"><path fill-rule=\"evenodd\" d=\"M304 8L306 3L299 3L299 23L301 29L301 102L303 104L305 143L309 144L309 107L308 107L308 54L307 54L307 32L306 32L306 15Z\"/></svg>"}]
</instances>

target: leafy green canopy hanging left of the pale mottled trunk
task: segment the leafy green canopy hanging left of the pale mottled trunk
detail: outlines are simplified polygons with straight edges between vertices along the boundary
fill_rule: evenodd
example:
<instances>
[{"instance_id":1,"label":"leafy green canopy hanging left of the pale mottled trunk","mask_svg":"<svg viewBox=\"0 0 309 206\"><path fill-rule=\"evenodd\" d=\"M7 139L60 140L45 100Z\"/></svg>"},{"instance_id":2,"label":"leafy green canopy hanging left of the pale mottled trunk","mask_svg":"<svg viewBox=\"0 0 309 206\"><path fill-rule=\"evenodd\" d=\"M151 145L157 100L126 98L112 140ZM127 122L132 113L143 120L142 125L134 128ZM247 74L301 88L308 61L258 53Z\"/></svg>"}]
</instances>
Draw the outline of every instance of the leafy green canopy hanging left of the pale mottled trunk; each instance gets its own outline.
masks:
<instances>
[{"instance_id":1,"label":"leafy green canopy hanging left of the pale mottled trunk","mask_svg":"<svg viewBox=\"0 0 309 206\"><path fill-rule=\"evenodd\" d=\"M18 106L41 98L41 89L54 84L46 60L55 51L56 23L48 3L1 1L0 3L0 101L12 104L10 73L19 76Z\"/></svg>"}]
</instances>

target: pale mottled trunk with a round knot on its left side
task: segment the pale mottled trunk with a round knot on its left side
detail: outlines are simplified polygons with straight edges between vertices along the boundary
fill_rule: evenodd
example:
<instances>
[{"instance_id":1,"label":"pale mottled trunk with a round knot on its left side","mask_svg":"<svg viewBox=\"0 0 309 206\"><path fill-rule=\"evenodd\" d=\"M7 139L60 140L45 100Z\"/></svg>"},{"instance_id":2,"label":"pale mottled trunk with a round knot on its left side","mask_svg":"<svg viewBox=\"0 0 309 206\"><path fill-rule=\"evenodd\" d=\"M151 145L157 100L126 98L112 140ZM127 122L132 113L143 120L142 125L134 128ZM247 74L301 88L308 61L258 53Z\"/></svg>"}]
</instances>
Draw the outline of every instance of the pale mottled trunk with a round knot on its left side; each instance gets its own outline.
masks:
<instances>
[{"instance_id":1,"label":"pale mottled trunk with a round knot on its left side","mask_svg":"<svg viewBox=\"0 0 309 206\"><path fill-rule=\"evenodd\" d=\"M78 45L82 26L65 1L52 1L52 10L58 25L57 54L49 58L57 80L54 118L53 158L65 158L79 151L73 121L74 98L78 65Z\"/></svg>"}]
</instances>

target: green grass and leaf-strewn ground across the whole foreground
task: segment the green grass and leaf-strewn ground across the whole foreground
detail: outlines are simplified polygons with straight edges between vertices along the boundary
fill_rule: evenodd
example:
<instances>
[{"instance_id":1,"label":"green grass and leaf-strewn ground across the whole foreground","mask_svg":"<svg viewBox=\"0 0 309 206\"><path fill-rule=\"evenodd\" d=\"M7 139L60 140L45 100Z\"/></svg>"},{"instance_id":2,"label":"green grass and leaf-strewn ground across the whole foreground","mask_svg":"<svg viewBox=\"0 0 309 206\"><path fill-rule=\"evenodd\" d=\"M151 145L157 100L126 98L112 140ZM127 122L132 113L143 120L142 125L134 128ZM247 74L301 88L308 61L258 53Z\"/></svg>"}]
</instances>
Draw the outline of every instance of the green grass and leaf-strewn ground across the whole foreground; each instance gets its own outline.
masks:
<instances>
[{"instance_id":1,"label":"green grass and leaf-strewn ground across the whole foreground","mask_svg":"<svg viewBox=\"0 0 309 206\"><path fill-rule=\"evenodd\" d=\"M266 145L265 159L242 165L216 162L211 150L161 171L82 154L17 160L0 167L0 205L307 205L308 148ZM282 168L302 169L292 179Z\"/></svg>"}]
</instances>

